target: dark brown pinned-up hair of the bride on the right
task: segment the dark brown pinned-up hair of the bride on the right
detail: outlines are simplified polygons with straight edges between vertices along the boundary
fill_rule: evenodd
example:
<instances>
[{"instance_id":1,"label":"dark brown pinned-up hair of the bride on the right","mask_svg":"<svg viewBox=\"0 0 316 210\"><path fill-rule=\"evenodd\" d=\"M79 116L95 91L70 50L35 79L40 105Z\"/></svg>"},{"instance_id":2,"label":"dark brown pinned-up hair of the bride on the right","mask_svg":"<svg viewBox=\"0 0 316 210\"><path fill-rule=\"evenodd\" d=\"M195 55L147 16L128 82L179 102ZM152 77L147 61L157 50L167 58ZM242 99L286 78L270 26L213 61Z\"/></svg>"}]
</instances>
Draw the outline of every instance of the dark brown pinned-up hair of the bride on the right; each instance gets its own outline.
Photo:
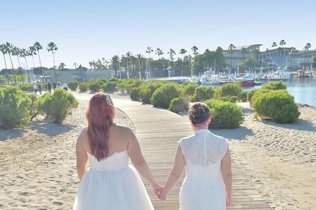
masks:
<instances>
[{"instance_id":1,"label":"dark brown pinned-up hair of the bride on the right","mask_svg":"<svg viewBox=\"0 0 316 210\"><path fill-rule=\"evenodd\" d=\"M211 117L211 111L206 104L197 102L189 109L189 119L194 126L204 123L208 117Z\"/></svg>"}]
</instances>

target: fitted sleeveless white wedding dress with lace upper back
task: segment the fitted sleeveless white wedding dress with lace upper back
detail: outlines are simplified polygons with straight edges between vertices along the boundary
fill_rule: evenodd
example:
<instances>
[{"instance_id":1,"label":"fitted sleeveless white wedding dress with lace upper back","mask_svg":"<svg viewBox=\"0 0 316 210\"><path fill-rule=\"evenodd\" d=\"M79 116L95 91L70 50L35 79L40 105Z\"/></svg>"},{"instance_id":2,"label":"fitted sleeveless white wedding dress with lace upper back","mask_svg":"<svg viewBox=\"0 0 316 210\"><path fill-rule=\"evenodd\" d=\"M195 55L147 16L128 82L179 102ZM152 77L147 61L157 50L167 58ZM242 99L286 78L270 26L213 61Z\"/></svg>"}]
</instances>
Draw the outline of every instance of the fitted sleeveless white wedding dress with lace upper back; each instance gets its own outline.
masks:
<instances>
[{"instance_id":1,"label":"fitted sleeveless white wedding dress with lace upper back","mask_svg":"<svg viewBox=\"0 0 316 210\"><path fill-rule=\"evenodd\" d=\"M179 140L186 162L180 189L180 210L226 210L226 194L220 175L227 142L206 129Z\"/></svg>"}]
</instances>

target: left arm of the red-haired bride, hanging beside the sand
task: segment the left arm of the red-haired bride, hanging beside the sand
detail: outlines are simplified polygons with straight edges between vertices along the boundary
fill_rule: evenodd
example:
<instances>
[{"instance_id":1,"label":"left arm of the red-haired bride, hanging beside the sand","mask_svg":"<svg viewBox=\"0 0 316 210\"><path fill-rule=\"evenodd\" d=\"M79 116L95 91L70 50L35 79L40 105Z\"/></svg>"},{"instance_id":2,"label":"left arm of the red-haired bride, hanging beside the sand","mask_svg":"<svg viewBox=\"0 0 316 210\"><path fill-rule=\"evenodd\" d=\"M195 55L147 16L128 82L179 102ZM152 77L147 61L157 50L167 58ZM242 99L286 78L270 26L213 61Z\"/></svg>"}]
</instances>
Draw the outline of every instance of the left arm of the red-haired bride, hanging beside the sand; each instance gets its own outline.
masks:
<instances>
[{"instance_id":1,"label":"left arm of the red-haired bride, hanging beside the sand","mask_svg":"<svg viewBox=\"0 0 316 210\"><path fill-rule=\"evenodd\" d=\"M84 140L84 136L85 135L83 135L81 132L76 143L77 174L79 176L80 181L81 181L82 176L87 171L87 167L88 167L88 157L82 146L82 141Z\"/></svg>"}]
</instances>

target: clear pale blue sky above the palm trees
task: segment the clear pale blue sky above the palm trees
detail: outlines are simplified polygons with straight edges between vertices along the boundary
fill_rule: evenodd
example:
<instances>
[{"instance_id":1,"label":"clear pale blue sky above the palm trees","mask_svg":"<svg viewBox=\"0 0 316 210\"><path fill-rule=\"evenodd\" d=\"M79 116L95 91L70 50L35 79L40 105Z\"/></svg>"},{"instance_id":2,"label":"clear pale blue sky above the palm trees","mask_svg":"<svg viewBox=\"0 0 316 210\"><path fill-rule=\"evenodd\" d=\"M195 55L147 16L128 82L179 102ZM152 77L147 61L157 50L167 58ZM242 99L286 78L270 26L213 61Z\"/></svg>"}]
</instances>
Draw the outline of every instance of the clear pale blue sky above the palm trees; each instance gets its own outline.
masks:
<instances>
[{"instance_id":1,"label":"clear pale blue sky above the palm trees","mask_svg":"<svg viewBox=\"0 0 316 210\"><path fill-rule=\"evenodd\" d=\"M147 46L177 54L180 48L191 53L193 45L202 52L230 43L260 43L264 50L285 39L288 47L301 50L310 42L316 48L315 0L3 0L0 7L0 43L39 41L46 49L53 41L56 63L68 68L117 52L145 55ZM43 66L53 66L51 54L40 55Z\"/></svg>"}]
</instances>

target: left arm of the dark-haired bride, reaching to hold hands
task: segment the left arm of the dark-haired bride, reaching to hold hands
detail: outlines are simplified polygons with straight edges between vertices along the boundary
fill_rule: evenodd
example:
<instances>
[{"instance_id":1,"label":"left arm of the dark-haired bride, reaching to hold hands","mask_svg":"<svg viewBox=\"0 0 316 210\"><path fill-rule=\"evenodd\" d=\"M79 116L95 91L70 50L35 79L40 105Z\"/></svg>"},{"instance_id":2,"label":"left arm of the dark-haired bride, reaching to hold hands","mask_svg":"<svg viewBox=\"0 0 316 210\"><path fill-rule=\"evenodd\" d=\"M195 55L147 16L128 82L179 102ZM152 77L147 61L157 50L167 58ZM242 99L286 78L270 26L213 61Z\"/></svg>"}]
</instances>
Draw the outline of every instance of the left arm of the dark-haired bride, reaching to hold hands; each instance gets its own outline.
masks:
<instances>
[{"instance_id":1,"label":"left arm of the dark-haired bride, reaching to hold hands","mask_svg":"<svg viewBox=\"0 0 316 210\"><path fill-rule=\"evenodd\" d=\"M173 163L172 170L168 176L166 184L163 187L163 190L161 191L161 193L159 195L160 200L166 200L167 194L169 193L169 191L173 188L173 186L181 178L185 165L186 165L186 163L184 160L182 149L181 149L180 145L178 144L176 155L174 157L174 163Z\"/></svg>"}]
</instances>

